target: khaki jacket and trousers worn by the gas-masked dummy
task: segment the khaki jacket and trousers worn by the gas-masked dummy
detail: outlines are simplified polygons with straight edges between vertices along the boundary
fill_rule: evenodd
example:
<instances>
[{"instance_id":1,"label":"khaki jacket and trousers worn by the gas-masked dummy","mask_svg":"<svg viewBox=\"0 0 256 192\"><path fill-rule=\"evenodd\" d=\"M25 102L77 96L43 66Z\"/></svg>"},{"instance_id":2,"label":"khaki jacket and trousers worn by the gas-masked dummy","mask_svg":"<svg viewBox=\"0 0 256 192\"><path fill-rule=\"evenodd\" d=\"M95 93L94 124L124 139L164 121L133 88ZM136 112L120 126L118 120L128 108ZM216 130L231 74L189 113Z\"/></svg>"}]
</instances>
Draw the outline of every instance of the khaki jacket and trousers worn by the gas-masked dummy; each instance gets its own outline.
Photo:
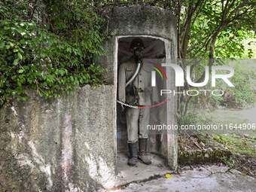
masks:
<instances>
[{"instance_id":1,"label":"khaki jacket and trousers worn by the gas-masked dummy","mask_svg":"<svg viewBox=\"0 0 256 192\"><path fill-rule=\"evenodd\" d=\"M151 67L149 63L142 63L141 70L131 84L138 91L139 100L137 106L151 106L153 102L158 102L158 94L155 88L151 87ZM133 77L137 64L133 58L123 62L118 72L118 98L120 102L130 101L133 98L126 98L126 82ZM126 108L126 126L128 143L137 142L139 139L148 139L147 125L150 117L150 108Z\"/></svg>"}]
</instances>

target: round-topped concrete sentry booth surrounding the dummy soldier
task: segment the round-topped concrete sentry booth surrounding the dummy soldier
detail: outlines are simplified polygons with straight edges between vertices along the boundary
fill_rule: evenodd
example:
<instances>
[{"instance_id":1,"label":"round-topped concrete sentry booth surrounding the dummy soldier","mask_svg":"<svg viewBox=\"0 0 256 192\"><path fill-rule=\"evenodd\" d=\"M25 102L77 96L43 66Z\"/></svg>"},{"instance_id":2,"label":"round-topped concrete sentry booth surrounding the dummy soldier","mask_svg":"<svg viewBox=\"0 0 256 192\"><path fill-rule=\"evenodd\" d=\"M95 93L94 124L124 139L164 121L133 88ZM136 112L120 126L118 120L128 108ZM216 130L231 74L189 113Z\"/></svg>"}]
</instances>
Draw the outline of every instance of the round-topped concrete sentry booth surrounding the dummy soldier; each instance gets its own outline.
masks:
<instances>
[{"instance_id":1,"label":"round-topped concrete sentry booth surrounding the dummy soldier","mask_svg":"<svg viewBox=\"0 0 256 192\"><path fill-rule=\"evenodd\" d=\"M108 73L105 73L105 80L110 84L114 84L115 96L117 96L118 66L132 55L130 53L130 42L133 38L142 38L145 42L146 49L143 58L164 58L169 62L175 61L177 58L176 21L169 11L161 8L140 6L114 8L114 11L109 16L110 20L105 29L111 35L111 38L105 41L104 44L109 57L103 58L103 63L101 64L108 69ZM164 68L164 70L169 79L162 84L162 87L175 90L172 69ZM166 96L166 99L169 99L169 101L162 105L160 123L177 124L173 113L176 111L177 99L171 94ZM115 124L117 154L128 151L125 120L125 113L120 111L120 106L117 103ZM149 135L148 151L164 157L168 166L175 170L177 168L177 136L175 135L175 130L169 130L168 133L162 132L162 134L151 132ZM118 159L117 156L117 171L120 163Z\"/></svg>"}]
</instances>

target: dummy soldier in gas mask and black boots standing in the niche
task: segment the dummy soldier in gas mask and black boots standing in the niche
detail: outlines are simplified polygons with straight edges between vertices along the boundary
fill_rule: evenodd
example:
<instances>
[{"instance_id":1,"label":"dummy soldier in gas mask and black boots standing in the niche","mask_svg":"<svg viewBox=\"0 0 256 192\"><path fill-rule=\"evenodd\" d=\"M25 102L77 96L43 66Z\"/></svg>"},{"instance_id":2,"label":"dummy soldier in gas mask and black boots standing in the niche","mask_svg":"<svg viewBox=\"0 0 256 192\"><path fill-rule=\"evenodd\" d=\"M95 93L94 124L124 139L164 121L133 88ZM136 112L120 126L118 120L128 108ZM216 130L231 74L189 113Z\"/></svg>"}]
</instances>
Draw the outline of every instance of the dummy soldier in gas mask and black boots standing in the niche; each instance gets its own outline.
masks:
<instances>
[{"instance_id":1,"label":"dummy soldier in gas mask and black boots standing in the niche","mask_svg":"<svg viewBox=\"0 0 256 192\"><path fill-rule=\"evenodd\" d=\"M130 60L121 63L118 72L118 99L120 102L134 106L151 106L151 98L158 102L155 89L151 87L151 69L142 60L144 44L141 38L134 38L130 44L133 56ZM121 105L121 110L124 106ZM150 108L126 107L126 127L130 159L128 165L135 166L136 161L142 160L151 164L146 153ZM137 141L139 139L139 154Z\"/></svg>"}]
</instances>

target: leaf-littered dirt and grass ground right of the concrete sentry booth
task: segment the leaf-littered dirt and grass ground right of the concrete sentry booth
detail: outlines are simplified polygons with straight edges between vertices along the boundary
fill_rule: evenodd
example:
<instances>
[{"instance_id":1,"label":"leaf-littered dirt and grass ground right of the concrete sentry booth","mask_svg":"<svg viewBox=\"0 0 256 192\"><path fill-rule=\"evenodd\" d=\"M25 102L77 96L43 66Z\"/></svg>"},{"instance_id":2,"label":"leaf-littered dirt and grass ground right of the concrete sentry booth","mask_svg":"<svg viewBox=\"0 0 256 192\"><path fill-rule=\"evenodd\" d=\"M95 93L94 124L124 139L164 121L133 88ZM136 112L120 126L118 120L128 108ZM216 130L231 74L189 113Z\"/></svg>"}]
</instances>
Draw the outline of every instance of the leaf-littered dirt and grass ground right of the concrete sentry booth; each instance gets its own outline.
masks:
<instances>
[{"instance_id":1,"label":"leaf-littered dirt and grass ground right of the concrete sentry booth","mask_svg":"<svg viewBox=\"0 0 256 192\"><path fill-rule=\"evenodd\" d=\"M214 118L213 118L214 117ZM256 108L247 110L218 109L215 111L200 111L197 122L207 123L256 123ZM221 134L190 134L182 133L178 136L179 151L197 151L207 148L221 148L230 150L233 156L224 160L228 166L256 178L256 132L221 133Z\"/></svg>"}]
</instances>

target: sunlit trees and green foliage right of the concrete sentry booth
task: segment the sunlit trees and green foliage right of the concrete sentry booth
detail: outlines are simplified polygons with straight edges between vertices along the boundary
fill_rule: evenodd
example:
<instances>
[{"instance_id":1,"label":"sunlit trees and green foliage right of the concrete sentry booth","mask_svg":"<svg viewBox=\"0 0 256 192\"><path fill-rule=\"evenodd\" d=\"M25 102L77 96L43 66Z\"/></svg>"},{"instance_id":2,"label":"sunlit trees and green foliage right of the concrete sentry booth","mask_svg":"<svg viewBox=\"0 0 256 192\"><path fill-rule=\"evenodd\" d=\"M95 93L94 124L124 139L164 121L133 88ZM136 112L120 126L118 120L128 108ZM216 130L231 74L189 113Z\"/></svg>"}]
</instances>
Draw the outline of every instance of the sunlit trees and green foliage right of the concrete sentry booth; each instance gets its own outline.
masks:
<instances>
[{"instance_id":1,"label":"sunlit trees and green foliage right of the concrete sentry booth","mask_svg":"<svg viewBox=\"0 0 256 192\"><path fill-rule=\"evenodd\" d=\"M253 0L187 0L173 1L172 10L178 17L178 56L183 69L190 66L190 78L193 82L203 82L205 79L205 66L225 65L222 59L250 59L255 58L255 32L256 32L256 2ZM175 8L175 9L173 9ZM247 42L245 44L245 42ZM194 59L194 62L187 62ZM208 59L208 62L204 62ZM245 66L242 66L245 67ZM236 66L236 75L231 81L235 81L234 88L225 87L224 83L218 87L205 87L207 89L221 89L227 91L224 97L212 96L209 105L220 104L222 100L229 99L240 105L255 102L255 90L251 90L250 82L245 77L255 78L255 71L242 72L242 68ZM237 75L239 74L239 75ZM240 89L242 84L246 84ZM204 88L204 87L202 87ZM185 81L185 86L179 88L179 92L197 89L190 87ZM232 96L231 96L232 95ZM242 95L247 99L242 100ZM250 99L248 99L250 98ZM191 101L197 101L197 96L178 97L178 115L183 118L187 114ZM201 102L206 102L206 97Z\"/></svg>"}]
</instances>

